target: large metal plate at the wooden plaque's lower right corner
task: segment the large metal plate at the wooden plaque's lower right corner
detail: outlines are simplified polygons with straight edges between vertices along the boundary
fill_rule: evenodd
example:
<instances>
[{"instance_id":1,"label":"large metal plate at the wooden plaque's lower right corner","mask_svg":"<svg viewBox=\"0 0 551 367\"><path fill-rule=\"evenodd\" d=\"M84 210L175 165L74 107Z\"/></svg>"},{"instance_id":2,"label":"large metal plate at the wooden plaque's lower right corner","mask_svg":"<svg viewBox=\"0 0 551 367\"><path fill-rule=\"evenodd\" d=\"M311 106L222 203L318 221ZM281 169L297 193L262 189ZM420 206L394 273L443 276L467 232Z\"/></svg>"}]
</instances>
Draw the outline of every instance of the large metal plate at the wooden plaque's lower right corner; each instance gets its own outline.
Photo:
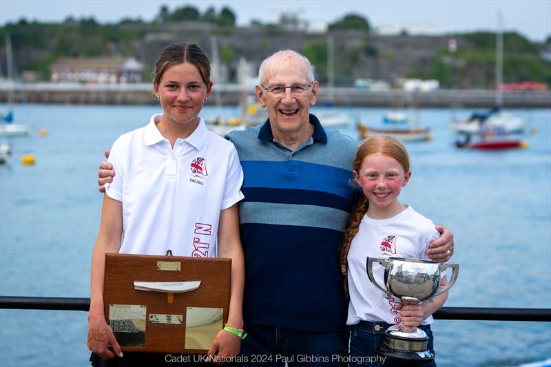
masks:
<instances>
[{"instance_id":1,"label":"large metal plate at the wooden plaque's lower right corner","mask_svg":"<svg viewBox=\"0 0 551 367\"><path fill-rule=\"evenodd\" d=\"M185 348L209 349L222 330L223 308L187 307L185 313Z\"/></svg>"}]
</instances>

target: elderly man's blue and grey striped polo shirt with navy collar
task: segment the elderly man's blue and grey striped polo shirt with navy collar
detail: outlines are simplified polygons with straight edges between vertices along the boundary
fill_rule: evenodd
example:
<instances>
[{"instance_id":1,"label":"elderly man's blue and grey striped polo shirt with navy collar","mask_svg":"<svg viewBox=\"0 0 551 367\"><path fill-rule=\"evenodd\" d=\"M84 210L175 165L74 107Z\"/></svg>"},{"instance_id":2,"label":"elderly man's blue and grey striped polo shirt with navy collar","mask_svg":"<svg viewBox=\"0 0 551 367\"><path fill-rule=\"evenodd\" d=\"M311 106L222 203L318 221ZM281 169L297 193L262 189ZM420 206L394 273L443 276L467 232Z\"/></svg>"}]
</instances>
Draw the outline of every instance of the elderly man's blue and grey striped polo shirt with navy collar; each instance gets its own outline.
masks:
<instances>
[{"instance_id":1,"label":"elderly man's blue and grey striped polo shirt with navy collar","mask_svg":"<svg viewBox=\"0 0 551 367\"><path fill-rule=\"evenodd\" d=\"M245 322L306 331L345 328L339 247L356 198L357 142L324 130L294 151L273 139L269 120L228 134L245 179L240 234Z\"/></svg>"}]
</instances>

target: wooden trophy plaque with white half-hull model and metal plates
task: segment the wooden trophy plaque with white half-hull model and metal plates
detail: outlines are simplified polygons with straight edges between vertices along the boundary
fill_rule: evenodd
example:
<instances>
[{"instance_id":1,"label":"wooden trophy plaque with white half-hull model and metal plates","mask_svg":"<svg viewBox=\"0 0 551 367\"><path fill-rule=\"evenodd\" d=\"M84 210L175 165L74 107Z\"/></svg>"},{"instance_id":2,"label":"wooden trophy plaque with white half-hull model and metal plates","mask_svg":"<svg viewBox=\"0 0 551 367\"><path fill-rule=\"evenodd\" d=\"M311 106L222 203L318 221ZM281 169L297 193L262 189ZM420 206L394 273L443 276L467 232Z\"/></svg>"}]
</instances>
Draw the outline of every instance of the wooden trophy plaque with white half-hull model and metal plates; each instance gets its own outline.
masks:
<instances>
[{"instance_id":1,"label":"wooden trophy plaque with white half-hull model and metal plates","mask_svg":"<svg viewBox=\"0 0 551 367\"><path fill-rule=\"evenodd\" d=\"M103 304L123 350L206 353L227 322L231 259L105 254Z\"/></svg>"}]
</instances>

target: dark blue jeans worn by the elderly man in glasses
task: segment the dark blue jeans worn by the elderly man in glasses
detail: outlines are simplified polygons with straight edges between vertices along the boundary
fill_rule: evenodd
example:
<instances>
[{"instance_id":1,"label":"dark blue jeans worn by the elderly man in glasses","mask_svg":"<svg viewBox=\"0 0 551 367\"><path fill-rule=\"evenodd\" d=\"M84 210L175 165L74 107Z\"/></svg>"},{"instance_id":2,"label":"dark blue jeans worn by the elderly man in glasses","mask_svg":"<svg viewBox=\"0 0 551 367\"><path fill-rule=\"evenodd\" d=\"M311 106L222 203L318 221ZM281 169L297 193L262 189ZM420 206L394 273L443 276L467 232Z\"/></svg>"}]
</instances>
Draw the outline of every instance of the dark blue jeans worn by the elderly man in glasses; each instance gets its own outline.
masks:
<instances>
[{"instance_id":1,"label":"dark blue jeans worn by the elderly man in glasses","mask_svg":"<svg viewBox=\"0 0 551 367\"><path fill-rule=\"evenodd\" d=\"M346 367L349 333L303 331L246 324L241 341L240 366Z\"/></svg>"}]
</instances>

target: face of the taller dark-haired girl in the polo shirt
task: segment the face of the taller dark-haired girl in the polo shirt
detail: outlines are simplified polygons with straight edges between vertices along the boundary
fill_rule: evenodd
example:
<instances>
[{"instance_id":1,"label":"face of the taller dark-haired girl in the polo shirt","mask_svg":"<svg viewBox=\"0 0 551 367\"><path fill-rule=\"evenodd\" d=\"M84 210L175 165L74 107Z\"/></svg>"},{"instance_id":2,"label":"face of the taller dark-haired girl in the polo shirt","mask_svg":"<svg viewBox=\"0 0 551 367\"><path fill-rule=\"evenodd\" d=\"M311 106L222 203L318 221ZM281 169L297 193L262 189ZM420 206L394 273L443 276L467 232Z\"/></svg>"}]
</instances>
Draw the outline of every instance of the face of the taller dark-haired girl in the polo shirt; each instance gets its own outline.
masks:
<instances>
[{"instance_id":1,"label":"face of the taller dark-haired girl in the polo shirt","mask_svg":"<svg viewBox=\"0 0 551 367\"><path fill-rule=\"evenodd\" d=\"M159 83L154 81L153 85L163 107L163 120L194 125L198 123L197 117L212 87L212 83L205 85L199 70L192 63L169 66Z\"/></svg>"}]
</instances>

